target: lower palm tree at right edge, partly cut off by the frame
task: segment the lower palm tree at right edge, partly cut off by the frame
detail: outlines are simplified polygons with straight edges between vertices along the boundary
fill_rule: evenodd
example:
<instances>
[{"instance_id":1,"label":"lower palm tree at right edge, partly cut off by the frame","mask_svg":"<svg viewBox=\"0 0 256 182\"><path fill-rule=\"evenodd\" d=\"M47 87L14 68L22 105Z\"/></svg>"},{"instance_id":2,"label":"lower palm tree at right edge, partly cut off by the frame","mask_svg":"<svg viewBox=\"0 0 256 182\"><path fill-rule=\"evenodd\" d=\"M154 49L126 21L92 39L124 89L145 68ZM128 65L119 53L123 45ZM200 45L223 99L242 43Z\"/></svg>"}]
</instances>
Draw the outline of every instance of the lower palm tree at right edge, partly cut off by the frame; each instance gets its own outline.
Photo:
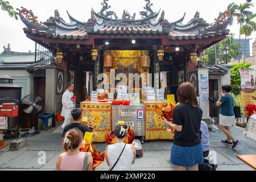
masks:
<instances>
[{"instance_id":1,"label":"lower palm tree at right edge, partly cut off by the frame","mask_svg":"<svg viewBox=\"0 0 256 182\"><path fill-rule=\"evenodd\" d=\"M246 38L248 36L251 36L251 34L256 31L256 22L253 21L253 19L256 17L256 14L253 14L245 19L245 25L241 27L240 34L245 35L245 42ZM243 61L245 61L245 48L243 52Z\"/></svg>"}]
</instances>

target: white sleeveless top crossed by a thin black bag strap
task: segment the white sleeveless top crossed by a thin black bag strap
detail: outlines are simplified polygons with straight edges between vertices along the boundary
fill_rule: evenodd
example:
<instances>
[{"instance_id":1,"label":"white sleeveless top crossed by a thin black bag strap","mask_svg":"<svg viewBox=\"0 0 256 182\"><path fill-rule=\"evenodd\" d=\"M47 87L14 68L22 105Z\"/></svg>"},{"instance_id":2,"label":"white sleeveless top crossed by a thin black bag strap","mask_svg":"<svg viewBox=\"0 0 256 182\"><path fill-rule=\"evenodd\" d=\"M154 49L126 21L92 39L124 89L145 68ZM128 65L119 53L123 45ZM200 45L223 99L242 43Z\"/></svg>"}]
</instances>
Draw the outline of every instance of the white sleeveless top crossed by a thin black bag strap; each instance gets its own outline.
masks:
<instances>
[{"instance_id":1,"label":"white sleeveless top crossed by a thin black bag strap","mask_svg":"<svg viewBox=\"0 0 256 182\"><path fill-rule=\"evenodd\" d=\"M109 167L112 168L117 162L119 155L121 154L123 147L125 147L125 143L115 143L110 144L108 147L108 159L109 159ZM123 154L118 160L115 167L112 171L131 171L131 166L133 163L133 151L131 150L130 144L126 144L125 150L123 150Z\"/></svg>"}]
</instances>

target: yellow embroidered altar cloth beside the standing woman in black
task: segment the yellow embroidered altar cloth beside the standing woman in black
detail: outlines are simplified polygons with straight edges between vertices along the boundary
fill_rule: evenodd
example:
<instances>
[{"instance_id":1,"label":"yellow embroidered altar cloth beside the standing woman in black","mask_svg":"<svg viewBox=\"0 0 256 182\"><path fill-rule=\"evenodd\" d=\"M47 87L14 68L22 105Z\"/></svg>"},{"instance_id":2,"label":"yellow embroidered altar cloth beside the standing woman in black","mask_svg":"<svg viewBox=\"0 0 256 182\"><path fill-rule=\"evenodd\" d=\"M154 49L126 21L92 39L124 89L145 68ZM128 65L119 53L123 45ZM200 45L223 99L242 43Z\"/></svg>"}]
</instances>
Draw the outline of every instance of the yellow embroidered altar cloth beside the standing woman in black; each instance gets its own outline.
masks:
<instances>
[{"instance_id":1,"label":"yellow embroidered altar cloth beside the standing woman in black","mask_svg":"<svg viewBox=\"0 0 256 182\"><path fill-rule=\"evenodd\" d=\"M174 134L168 133L169 127L164 124L161 116L155 112L155 103L146 103L145 113L146 140L174 138Z\"/></svg>"}]
</instances>

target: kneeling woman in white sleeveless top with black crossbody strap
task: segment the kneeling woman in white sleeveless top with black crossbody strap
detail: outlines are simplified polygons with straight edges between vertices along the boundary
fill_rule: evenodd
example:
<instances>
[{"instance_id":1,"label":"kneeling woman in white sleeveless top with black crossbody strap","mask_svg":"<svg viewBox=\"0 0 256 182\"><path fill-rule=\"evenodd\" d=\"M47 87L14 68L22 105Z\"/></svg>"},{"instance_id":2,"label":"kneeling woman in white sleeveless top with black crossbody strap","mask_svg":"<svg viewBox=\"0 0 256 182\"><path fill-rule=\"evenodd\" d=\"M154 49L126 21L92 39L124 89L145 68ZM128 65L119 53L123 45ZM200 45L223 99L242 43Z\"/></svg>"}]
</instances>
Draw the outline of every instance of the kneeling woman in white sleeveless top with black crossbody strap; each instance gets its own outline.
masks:
<instances>
[{"instance_id":1,"label":"kneeling woman in white sleeveless top with black crossbody strap","mask_svg":"<svg viewBox=\"0 0 256 182\"><path fill-rule=\"evenodd\" d=\"M110 171L131 171L135 163L136 150L133 144L123 143L126 137L126 127L117 125L114 129L115 144L106 147L106 162Z\"/></svg>"}]
</instances>

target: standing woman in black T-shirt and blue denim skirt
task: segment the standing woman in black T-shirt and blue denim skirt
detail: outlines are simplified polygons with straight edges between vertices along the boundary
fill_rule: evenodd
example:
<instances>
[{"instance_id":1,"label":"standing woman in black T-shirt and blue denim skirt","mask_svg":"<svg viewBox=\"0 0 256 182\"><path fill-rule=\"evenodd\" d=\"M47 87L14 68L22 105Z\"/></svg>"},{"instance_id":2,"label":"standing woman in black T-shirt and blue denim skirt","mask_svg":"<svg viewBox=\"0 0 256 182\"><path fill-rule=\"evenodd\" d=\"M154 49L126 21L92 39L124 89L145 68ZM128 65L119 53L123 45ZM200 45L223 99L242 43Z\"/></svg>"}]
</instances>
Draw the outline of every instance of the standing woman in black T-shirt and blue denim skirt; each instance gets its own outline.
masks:
<instances>
[{"instance_id":1,"label":"standing woman in black T-shirt and blue denim skirt","mask_svg":"<svg viewBox=\"0 0 256 182\"><path fill-rule=\"evenodd\" d=\"M200 127L203 111L198 105L194 86L184 82L177 90L180 102L174 109L172 123L166 118L164 123L175 129L174 143L171 149L171 163L176 170L198 171L198 164L203 163Z\"/></svg>"}]
</instances>

